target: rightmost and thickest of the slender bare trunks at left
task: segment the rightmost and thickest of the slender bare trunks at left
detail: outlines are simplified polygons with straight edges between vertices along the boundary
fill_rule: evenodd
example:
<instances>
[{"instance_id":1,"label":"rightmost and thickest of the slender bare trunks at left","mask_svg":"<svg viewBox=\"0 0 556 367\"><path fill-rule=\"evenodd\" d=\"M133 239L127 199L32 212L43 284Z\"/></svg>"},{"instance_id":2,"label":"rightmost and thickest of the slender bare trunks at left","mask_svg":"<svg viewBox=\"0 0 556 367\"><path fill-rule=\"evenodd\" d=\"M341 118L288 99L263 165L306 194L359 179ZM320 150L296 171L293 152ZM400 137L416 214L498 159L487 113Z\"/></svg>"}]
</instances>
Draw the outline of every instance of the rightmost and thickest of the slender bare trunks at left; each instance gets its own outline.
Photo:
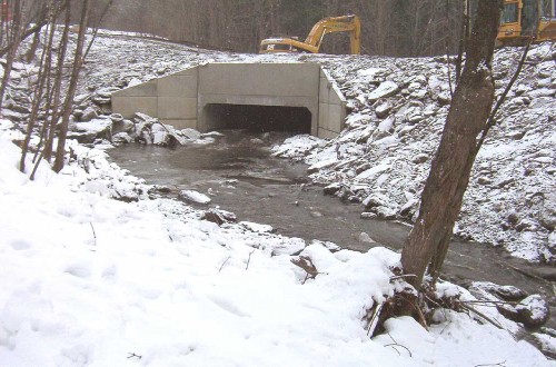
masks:
<instances>
[{"instance_id":1,"label":"rightmost and thickest of the slender bare trunks at left","mask_svg":"<svg viewBox=\"0 0 556 367\"><path fill-rule=\"evenodd\" d=\"M69 7L69 4L68 4ZM87 24L89 22L89 0L83 0L81 8L81 20L79 23L79 33L77 37L76 53L73 59L73 68L71 70L71 78L69 81L68 93L66 95L66 102L63 105L62 123L60 127L60 135L58 136L58 147L56 150L56 159L53 170L59 172L63 168L63 157L66 155L66 138L68 136L69 119L71 115L71 106L73 97L76 96L77 82L79 80L79 71L83 65L83 46L85 34L87 32Z\"/></svg>"}]
</instances>

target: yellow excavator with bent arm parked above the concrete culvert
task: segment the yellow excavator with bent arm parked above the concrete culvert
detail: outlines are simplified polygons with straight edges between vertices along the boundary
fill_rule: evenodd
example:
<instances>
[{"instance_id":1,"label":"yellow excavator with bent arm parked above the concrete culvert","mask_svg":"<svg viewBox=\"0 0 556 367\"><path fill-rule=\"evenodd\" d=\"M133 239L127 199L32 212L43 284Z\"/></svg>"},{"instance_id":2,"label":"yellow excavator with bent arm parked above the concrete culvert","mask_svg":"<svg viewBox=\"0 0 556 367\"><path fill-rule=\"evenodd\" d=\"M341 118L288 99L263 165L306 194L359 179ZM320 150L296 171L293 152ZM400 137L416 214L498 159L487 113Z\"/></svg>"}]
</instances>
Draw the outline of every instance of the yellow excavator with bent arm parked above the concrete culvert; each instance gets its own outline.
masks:
<instances>
[{"instance_id":1,"label":"yellow excavator with bent arm parked above the concrete culvert","mask_svg":"<svg viewBox=\"0 0 556 367\"><path fill-rule=\"evenodd\" d=\"M359 54L361 48L361 22L357 16L328 17L312 26L309 36L301 42L297 38L268 38L260 42L259 53L310 52L318 53L322 38L332 32L349 32L350 53Z\"/></svg>"}]
</instances>

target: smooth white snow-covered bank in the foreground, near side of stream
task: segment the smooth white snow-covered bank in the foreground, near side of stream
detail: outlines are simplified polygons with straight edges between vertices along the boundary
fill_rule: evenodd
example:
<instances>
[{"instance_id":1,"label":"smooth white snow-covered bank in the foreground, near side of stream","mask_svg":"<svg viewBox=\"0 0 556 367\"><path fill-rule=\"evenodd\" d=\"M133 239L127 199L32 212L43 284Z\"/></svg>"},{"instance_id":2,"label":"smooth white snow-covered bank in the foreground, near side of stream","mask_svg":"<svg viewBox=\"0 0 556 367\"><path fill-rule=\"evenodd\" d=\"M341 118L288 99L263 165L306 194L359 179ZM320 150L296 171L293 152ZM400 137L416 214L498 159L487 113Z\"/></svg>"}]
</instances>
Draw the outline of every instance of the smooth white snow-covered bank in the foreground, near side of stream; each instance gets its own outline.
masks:
<instances>
[{"instance_id":1,"label":"smooth white snow-covered bank in the foreground, near side of stream","mask_svg":"<svg viewBox=\"0 0 556 367\"><path fill-rule=\"evenodd\" d=\"M464 314L429 331L393 319L369 339L367 310L401 286L387 249L315 242L301 255L319 275L306 279L288 255L298 239L218 227L178 201L115 200L118 182L143 185L101 151L76 146L71 165L37 181L3 137L0 152L2 366L552 365Z\"/></svg>"}]
</instances>

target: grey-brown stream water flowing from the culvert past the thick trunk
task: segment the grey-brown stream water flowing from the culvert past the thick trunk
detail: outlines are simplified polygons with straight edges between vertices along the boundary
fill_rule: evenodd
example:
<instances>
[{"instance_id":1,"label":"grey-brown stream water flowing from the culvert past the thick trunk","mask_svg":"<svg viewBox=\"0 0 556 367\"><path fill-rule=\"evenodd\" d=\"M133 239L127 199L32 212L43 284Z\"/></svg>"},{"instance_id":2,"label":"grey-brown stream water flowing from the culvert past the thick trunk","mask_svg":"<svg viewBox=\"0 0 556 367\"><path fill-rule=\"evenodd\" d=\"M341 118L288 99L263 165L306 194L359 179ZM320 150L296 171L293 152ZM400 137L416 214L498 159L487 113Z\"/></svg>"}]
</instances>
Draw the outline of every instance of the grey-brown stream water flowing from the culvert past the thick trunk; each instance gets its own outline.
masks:
<instances>
[{"instance_id":1,"label":"grey-brown stream water flowing from the culvert past the thick trunk","mask_svg":"<svg viewBox=\"0 0 556 367\"><path fill-rule=\"evenodd\" d=\"M234 211L238 220L271 225L281 235L332 241L358 251L378 244L401 249L408 225L360 219L360 205L341 204L322 195L321 187L309 185L307 166L270 156L270 147L284 141L287 133L222 133L207 145L170 149L133 143L108 153L147 184L171 187L173 195L181 189L210 192L211 207ZM378 244L359 241L361 232ZM548 280L554 280L554 268L530 265L493 246L454 239L443 272L444 278L459 285L493 281L554 300L554 282ZM554 327L554 321L550 324Z\"/></svg>"}]
</instances>

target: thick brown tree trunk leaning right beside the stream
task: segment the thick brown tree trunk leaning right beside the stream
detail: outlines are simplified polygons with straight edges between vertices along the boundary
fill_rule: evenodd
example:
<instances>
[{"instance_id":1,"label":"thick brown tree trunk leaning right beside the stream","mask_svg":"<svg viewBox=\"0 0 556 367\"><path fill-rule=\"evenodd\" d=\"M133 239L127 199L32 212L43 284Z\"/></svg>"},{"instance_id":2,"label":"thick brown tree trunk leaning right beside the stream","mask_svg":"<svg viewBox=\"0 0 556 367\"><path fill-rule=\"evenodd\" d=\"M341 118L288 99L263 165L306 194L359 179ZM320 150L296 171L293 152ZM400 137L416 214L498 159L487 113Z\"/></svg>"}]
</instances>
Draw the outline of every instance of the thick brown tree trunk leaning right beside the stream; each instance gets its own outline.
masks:
<instances>
[{"instance_id":1,"label":"thick brown tree trunk leaning right beside the stream","mask_svg":"<svg viewBox=\"0 0 556 367\"><path fill-rule=\"evenodd\" d=\"M502 0L480 0L443 137L421 196L419 216L401 252L410 282L420 287L427 266L437 276L448 250L469 176L477 136L486 127L494 101L492 59Z\"/></svg>"}]
</instances>

